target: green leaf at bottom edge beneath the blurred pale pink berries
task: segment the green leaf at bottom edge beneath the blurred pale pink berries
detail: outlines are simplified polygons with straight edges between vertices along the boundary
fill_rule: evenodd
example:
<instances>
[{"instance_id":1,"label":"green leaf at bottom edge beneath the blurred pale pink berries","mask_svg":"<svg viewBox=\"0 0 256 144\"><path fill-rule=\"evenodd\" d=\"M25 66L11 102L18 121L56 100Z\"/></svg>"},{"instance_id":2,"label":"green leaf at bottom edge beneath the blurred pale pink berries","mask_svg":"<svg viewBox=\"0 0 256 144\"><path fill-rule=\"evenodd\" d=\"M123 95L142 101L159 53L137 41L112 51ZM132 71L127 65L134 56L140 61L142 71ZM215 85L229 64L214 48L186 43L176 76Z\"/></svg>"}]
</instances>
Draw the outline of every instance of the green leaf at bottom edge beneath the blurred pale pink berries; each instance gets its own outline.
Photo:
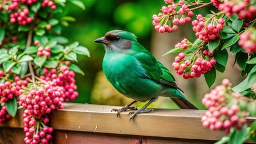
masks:
<instances>
[{"instance_id":1,"label":"green leaf at bottom edge beneath the blurred pale pink berries","mask_svg":"<svg viewBox=\"0 0 256 144\"><path fill-rule=\"evenodd\" d=\"M245 142L245 137L247 134L247 125L244 124L241 130L234 130L230 133L230 141L229 144L242 144Z\"/></svg>"}]
</instances>

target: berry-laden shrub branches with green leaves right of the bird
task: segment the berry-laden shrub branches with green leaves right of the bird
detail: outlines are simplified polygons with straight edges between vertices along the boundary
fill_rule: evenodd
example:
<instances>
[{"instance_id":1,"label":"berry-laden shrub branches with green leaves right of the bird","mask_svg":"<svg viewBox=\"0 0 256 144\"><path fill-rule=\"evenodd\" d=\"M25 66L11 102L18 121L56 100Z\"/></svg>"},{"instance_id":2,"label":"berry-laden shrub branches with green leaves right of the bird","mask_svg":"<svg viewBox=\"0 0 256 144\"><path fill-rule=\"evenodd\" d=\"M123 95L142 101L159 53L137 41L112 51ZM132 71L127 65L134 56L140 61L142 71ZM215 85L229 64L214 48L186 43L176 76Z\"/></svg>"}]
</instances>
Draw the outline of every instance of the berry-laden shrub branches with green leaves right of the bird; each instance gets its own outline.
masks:
<instances>
[{"instance_id":1,"label":"berry-laden shrub branches with green leaves right of the bird","mask_svg":"<svg viewBox=\"0 0 256 144\"><path fill-rule=\"evenodd\" d=\"M239 85L231 89L231 83L224 79L222 86L216 86L206 94L202 103L209 109L201 121L211 130L225 130L230 136L218 143L255 142L255 122L247 127L245 116L255 116L256 109L256 29L255 1L178 1L165 0L167 6L162 13L153 15L154 28L163 32L178 30L178 25L191 21L195 10L214 5L217 12L209 11L206 16L197 14L192 20L193 31L198 37L194 42L186 38L168 53L177 53L172 67L184 79L200 77L204 74L207 85L215 82L216 70L225 71L228 53L236 55L234 64L246 76Z\"/></svg>"}]
</instances>

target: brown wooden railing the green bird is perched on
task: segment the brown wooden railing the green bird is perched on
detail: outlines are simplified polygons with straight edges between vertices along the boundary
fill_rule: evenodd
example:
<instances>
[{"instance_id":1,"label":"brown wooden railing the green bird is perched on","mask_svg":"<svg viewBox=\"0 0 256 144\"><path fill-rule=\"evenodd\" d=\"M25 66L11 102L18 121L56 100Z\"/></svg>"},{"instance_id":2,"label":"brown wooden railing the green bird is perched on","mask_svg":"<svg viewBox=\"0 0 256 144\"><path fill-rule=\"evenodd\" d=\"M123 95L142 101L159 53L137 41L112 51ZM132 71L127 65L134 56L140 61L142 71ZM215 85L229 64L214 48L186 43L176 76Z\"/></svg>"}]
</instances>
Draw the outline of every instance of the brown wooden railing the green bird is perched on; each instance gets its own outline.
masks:
<instances>
[{"instance_id":1,"label":"brown wooden railing the green bird is perched on","mask_svg":"<svg viewBox=\"0 0 256 144\"><path fill-rule=\"evenodd\" d=\"M154 109L129 121L128 112L117 118L116 106L65 103L50 114L53 143L214 143L225 136L201 125L204 110ZM249 117L248 123L256 118ZM22 110L0 124L0 143L23 143Z\"/></svg>"}]
</instances>

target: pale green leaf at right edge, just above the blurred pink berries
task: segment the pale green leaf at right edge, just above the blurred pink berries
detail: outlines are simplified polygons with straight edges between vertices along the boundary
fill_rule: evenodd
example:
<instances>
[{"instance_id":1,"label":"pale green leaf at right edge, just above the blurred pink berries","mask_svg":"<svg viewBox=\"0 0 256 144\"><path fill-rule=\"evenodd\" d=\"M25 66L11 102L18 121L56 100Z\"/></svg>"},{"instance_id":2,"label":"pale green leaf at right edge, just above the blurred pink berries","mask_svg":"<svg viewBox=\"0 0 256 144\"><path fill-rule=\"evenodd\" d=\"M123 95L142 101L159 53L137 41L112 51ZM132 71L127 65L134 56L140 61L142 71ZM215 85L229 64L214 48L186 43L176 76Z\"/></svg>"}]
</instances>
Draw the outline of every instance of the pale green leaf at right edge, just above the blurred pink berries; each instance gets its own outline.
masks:
<instances>
[{"instance_id":1,"label":"pale green leaf at right edge, just above the blurred pink berries","mask_svg":"<svg viewBox=\"0 0 256 144\"><path fill-rule=\"evenodd\" d=\"M234 86L233 91L234 92L242 92L246 89L251 88L254 83L256 82L256 65L252 70L248 73L248 76L243 80L243 82L239 83L239 85Z\"/></svg>"}]
</instances>

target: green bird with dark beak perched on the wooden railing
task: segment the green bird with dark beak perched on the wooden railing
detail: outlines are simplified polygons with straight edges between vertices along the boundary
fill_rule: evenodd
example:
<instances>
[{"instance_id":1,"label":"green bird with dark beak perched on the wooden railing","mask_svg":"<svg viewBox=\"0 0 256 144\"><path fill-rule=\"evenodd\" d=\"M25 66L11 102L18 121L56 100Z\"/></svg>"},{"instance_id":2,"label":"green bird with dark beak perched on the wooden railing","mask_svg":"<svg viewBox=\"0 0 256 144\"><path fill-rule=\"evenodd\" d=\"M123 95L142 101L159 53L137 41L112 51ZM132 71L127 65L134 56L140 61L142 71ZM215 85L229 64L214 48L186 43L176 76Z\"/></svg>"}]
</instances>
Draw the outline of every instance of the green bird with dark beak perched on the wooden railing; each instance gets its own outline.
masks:
<instances>
[{"instance_id":1,"label":"green bird with dark beak perched on the wooden railing","mask_svg":"<svg viewBox=\"0 0 256 144\"><path fill-rule=\"evenodd\" d=\"M120 112L131 110L131 120L138 113L151 112L152 109L146 108L159 96L171 98L180 109L197 109L181 94L171 72L139 44L131 32L109 31L94 42L105 45L102 66L106 78L118 92L135 100L121 109L112 109L117 116ZM137 101L148 103L138 110L131 107Z\"/></svg>"}]
</instances>

